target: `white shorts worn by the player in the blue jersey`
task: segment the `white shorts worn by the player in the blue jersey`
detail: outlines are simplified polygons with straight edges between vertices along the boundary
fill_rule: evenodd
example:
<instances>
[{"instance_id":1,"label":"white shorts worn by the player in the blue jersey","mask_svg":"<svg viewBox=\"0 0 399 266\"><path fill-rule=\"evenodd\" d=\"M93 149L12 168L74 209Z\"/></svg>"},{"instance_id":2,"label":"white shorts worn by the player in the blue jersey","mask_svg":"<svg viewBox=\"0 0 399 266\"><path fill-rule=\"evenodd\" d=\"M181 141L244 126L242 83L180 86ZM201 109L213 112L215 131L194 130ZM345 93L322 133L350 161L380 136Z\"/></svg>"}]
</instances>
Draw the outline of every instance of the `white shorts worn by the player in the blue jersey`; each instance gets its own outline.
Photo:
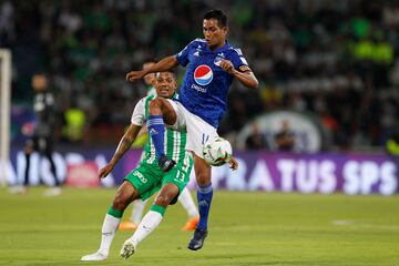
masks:
<instances>
[{"instance_id":1,"label":"white shorts worn by the player in the blue jersey","mask_svg":"<svg viewBox=\"0 0 399 266\"><path fill-rule=\"evenodd\" d=\"M197 156L204 157L202 154L203 145L208 141L218 136L215 127L209 125L198 115L187 111L182 103L167 100L176 112L176 123L168 125L168 129L182 131L187 130L186 151L194 152Z\"/></svg>"}]
</instances>

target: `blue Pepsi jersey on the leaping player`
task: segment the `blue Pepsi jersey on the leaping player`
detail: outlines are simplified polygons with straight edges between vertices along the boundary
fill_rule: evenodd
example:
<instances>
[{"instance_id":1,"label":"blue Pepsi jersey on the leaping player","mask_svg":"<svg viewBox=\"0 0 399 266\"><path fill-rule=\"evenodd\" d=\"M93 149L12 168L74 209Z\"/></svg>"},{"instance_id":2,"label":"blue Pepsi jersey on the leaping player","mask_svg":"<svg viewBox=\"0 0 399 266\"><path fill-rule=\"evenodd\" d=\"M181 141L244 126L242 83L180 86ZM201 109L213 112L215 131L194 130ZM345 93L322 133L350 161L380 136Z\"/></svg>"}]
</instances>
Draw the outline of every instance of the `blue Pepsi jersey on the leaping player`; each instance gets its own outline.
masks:
<instances>
[{"instance_id":1,"label":"blue Pepsi jersey on the leaping player","mask_svg":"<svg viewBox=\"0 0 399 266\"><path fill-rule=\"evenodd\" d=\"M176 54L178 63L187 66L180 88L180 102L193 114L217 129L227 108L227 92L234 76L219 65L222 59L232 61L235 69L247 66L239 49L226 44L214 51L203 39L195 39Z\"/></svg>"}]
</instances>

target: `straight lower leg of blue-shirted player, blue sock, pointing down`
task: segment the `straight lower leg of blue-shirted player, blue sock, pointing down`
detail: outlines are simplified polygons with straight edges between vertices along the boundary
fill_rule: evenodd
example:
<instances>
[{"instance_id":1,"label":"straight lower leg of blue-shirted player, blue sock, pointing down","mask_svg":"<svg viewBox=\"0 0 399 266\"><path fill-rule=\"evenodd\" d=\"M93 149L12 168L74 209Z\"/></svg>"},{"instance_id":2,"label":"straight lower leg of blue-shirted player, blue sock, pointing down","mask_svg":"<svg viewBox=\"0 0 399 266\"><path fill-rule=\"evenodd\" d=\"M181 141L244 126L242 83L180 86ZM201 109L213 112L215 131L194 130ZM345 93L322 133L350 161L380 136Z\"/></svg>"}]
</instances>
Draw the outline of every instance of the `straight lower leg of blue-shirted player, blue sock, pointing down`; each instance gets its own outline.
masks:
<instances>
[{"instance_id":1,"label":"straight lower leg of blue-shirted player, blue sock, pointing down","mask_svg":"<svg viewBox=\"0 0 399 266\"><path fill-rule=\"evenodd\" d=\"M197 155L194 155L194 171L197 180L197 204L200 211L200 222L194 231L194 236L188 243L188 248L197 250L203 247L207 236L207 219L213 197L213 186L211 182L211 166Z\"/></svg>"}]
</instances>

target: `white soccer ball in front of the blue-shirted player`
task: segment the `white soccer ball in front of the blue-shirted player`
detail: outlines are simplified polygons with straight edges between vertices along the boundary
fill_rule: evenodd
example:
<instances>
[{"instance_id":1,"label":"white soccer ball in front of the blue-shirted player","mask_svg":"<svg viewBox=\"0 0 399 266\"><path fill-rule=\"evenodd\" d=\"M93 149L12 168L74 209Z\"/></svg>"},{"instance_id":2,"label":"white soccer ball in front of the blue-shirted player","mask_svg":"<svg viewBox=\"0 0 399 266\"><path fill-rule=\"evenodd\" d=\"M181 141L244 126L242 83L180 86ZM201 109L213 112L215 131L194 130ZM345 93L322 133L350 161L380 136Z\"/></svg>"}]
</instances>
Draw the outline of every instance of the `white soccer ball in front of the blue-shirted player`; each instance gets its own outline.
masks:
<instances>
[{"instance_id":1,"label":"white soccer ball in front of the blue-shirted player","mask_svg":"<svg viewBox=\"0 0 399 266\"><path fill-rule=\"evenodd\" d=\"M232 158L233 149L228 141L218 136L209 140L203 146L203 156L206 163L212 166L221 166Z\"/></svg>"}]
</instances>

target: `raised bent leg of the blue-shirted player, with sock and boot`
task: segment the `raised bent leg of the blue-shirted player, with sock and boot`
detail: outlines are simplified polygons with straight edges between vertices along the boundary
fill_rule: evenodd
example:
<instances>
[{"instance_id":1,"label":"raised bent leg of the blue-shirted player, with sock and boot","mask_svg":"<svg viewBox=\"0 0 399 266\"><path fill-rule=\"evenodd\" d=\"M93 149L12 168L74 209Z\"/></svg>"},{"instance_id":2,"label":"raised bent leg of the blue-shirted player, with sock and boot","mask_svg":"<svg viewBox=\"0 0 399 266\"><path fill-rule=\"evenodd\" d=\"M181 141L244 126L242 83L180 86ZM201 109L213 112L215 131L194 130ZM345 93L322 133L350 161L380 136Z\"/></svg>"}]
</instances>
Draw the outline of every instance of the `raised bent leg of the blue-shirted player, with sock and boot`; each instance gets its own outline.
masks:
<instances>
[{"instance_id":1,"label":"raised bent leg of the blue-shirted player, with sock and boot","mask_svg":"<svg viewBox=\"0 0 399 266\"><path fill-rule=\"evenodd\" d=\"M155 155L160 167L163 172L168 172L176 162L167 158L165 154L165 125L174 124L176 121L176 113L172 105L165 100L156 98L150 102L149 120L146 122L151 140L155 147Z\"/></svg>"}]
</instances>

